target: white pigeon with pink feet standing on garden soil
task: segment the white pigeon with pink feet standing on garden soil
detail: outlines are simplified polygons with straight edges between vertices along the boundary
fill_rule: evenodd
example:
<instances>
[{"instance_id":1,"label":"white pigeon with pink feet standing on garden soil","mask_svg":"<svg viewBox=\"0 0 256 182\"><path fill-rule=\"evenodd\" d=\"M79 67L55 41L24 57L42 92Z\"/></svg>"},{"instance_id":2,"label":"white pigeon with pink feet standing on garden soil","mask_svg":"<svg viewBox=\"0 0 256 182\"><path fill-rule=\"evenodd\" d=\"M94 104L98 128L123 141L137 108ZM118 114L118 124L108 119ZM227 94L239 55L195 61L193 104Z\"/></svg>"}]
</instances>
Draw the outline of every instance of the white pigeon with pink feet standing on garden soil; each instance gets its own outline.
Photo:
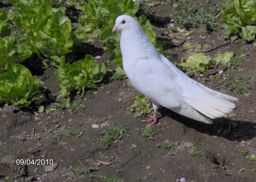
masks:
<instances>
[{"instance_id":1,"label":"white pigeon with pink feet standing on garden soil","mask_svg":"<svg viewBox=\"0 0 256 182\"><path fill-rule=\"evenodd\" d=\"M157 122L160 105L193 120L212 124L217 117L232 111L238 99L214 91L192 80L160 54L131 16L116 19L120 31L124 71L136 90L148 97L154 108L152 125ZM211 119L210 119L211 118Z\"/></svg>"}]
</instances>

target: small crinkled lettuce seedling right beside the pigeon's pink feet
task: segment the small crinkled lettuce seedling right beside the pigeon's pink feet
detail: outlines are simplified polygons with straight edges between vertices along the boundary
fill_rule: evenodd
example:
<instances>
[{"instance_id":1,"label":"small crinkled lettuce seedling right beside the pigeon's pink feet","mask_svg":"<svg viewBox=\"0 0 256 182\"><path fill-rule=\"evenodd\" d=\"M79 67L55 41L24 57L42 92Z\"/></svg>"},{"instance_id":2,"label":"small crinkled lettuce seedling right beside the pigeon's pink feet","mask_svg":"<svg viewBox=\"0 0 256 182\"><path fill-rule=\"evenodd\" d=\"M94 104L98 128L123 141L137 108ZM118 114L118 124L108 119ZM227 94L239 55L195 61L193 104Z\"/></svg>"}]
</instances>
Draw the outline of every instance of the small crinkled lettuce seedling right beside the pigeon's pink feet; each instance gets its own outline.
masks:
<instances>
[{"instance_id":1,"label":"small crinkled lettuce seedling right beside the pigeon's pink feet","mask_svg":"<svg viewBox=\"0 0 256 182\"><path fill-rule=\"evenodd\" d=\"M147 101L147 102L145 102ZM150 102L147 97L142 94L135 94L134 103L128 107L132 112L135 112L133 117L139 117L143 114L153 114L153 107L150 105Z\"/></svg>"}]
</instances>

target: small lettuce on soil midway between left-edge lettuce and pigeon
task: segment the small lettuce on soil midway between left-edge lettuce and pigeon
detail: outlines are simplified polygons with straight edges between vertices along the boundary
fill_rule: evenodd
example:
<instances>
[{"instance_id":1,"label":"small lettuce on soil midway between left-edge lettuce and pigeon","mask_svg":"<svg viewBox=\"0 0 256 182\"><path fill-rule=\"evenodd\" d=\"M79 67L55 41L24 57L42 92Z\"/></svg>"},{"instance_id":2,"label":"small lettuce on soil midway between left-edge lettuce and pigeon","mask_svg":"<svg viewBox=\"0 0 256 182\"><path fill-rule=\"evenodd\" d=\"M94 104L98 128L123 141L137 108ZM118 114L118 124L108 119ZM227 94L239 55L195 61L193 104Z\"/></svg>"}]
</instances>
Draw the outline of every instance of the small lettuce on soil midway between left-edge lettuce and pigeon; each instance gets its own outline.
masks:
<instances>
[{"instance_id":1,"label":"small lettuce on soil midway between left-edge lettuce and pigeon","mask_svg":"<svg viewBox=\"0 0 256 182\"><path fill-rule=\"evenodd\" d=\"M68 97L69 94L78 90L78 93L86 88L96 88L96 84L102 81L106 74L106 62L97 64L96 59L91 55L86 55L83 60L74 62L73 64L64 63L65 57L55 57L60 62L60 68L56 70L55 76L61 87L60 93Z\"/></svg>"}]
</instances>

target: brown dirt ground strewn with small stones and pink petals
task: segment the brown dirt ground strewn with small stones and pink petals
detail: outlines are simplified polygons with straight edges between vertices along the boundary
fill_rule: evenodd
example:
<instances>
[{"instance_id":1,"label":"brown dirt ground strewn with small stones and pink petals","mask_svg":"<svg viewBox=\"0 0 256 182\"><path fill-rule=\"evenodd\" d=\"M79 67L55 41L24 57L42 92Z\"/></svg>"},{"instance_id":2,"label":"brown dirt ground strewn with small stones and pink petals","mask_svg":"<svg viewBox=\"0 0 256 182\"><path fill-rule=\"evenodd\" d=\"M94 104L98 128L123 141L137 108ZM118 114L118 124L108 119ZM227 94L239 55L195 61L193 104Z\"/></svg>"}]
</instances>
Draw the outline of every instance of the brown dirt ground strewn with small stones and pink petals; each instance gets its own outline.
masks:
<instances>
[{"instance_id":1,"label":"brown dirt ground strewn with small stones and pink petals","mask_svg":"<svg viewBox=\"0 0 256 182\"><path fill-rule=\"evenodd\" d=\"M148 1L151 2L151 1ZM147 3L148 3L147 2ZM200 2L200 1L197 1ZM203 1L202 1L203 2ZM8 4L2 3L2 7ZM153 6L153 16L150 18L153 31L158 39L164 39L167 44L164 52L182 58L182 46L174 46L167 35L162 32L167 30L166 24L159 23L158 18L165 18L172 9L170 5L158 4ZM143 13L143 12L141 12ZM165 19L163 19L165 20ZM196 38L199 33L194 32L195 38L189 41L200 41ZM202 34L202 36L209 34ZM226 42L223 29L212 34L207 44L222 44ZM89 48L88 54L101 55L100 62L108 58L109 53L103 53L101 42L79 45L80 49ZM214 45L213 45L214 46ZM214 55L218 52L237 51L244 48L248 57L242 66L230 69L232 76L253 75L256 73L256 53L252 51L252 43L245 39L237 39L225 46L208 52ZM84 52L80 52L85 54ZM81 55L83 58L84 55ZM40 80L45 82L49 96L59 96L60 87L57 84L54 71L45 69L39 74ZM241 70L241 71L238 71ZM196 80L196 77L192 77ZM196 80L198 81L198 80ZM199 80L201 81L201 80ZM209 82L203 82L209 86ZM157 133L156 140L148 140L137 133L135 128L145 128L147 123L141 120L148 118L133 117L127 109L133 104L134 95L138 93L129 84L127 79L113 80L100 85L97 94L88 90L80 99L75 96L75 101L80 100L80 107L84 107L83 115L56 107L55 111L35 115L29 109L19 109L11 106L1 106L0 111L0 181L71 181L74 175L70 169L77 167L94 167L94 171L83 175L77 181L101 181L99 177L91 178L90 175L102 175L106 178L121 178L124 181L170 181L186 178L187 182L254 182L256 171L244 170L236 173L241 168L256 169L256 163L246 159L246 155L239 155L234 148L248 150L247 155L256 154L256 79L251 80L252 89L249 95L238 94L227 87L216 87L222 93L238 98L237 107L230 119L214 120L212 125L193 121L180 116L168 109L159 110L162 117L154 125ZM46 109L51 108L50 102L44 104ZM92 128L92 124L99 124L100 128ZM108 125L125 125L130 133L124 133L121 140L113 142L108 149L103 149L98 138ZM49 139L46 136L53 132L80 131L79 137L58 137ZM165 148L157 148L156 144L170 140L178 144L178 150L170 152ZM247 144L241 143L245 140ZM136 146L135 146L135 145ZM196 147L204 156L190 156L185 153L189 146ZM41 161L56 163L57 168L46 172L46 165L16 165L21 159L40 159ZM101 161L101 165L95 161ZM103 161L103 162L102 162ZM98 164L98 165L97 165ZM108 164L108 165L106 165ZM96 166L95 166L96 165ZM10 177L9 180L5 179ZM72 180L75 180L72 178Z\"/></svg>"}]
</instances>

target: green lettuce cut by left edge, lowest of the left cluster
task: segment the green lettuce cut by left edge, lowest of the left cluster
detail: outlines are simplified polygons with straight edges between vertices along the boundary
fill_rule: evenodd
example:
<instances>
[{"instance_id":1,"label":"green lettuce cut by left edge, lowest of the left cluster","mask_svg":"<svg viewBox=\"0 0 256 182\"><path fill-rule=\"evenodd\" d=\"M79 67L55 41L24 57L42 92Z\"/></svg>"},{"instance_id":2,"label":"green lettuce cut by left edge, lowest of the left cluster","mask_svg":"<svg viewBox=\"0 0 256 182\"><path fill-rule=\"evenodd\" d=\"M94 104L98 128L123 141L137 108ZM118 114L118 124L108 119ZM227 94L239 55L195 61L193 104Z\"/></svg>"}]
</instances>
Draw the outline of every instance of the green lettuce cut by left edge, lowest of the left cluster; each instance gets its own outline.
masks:
<instances>
[{"instance_id":1,"label":"green lettuce cut by left edge, lowest of the left cluster","mask_svg":"<svg viewBox=\"0 0 256 182\"><path fill-rule=\"evenodd\" d=\"M39 90L39 84L44 84L38 77L31 75L23 65L7 63L7 72L0 74L0 103L29 107L39 105L45 96Z\"/></svg>"}]
</instances>

